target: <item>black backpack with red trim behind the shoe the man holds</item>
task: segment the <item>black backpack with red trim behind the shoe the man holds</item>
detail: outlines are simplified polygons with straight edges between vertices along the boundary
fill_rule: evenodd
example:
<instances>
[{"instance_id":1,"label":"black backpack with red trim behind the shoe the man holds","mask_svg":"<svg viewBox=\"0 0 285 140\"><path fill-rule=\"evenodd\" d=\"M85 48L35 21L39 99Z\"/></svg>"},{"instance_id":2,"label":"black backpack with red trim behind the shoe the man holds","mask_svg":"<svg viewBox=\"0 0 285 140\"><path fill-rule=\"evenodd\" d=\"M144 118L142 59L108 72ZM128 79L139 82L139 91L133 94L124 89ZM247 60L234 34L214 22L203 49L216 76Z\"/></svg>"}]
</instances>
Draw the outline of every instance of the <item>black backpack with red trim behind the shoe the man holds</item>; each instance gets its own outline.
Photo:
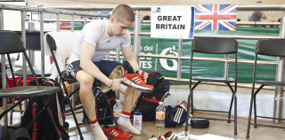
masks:
<instances>
[{"instance_id":1,"label":"black backpack with red trim behind the shoe the man holds","mask_svg":"<svg viewBox=\"0 0 285 140\"><path fill-rule=\"evenodd\" d=\"M153 90L150 93L142 93L134 110L142 112L142 121L155 121L156 108L159 106L159 102L163 102L170 95L170 82L165 80L159 71L152 70L149 72L147 84L152 85Z\"/></svg>"}]
</instances>

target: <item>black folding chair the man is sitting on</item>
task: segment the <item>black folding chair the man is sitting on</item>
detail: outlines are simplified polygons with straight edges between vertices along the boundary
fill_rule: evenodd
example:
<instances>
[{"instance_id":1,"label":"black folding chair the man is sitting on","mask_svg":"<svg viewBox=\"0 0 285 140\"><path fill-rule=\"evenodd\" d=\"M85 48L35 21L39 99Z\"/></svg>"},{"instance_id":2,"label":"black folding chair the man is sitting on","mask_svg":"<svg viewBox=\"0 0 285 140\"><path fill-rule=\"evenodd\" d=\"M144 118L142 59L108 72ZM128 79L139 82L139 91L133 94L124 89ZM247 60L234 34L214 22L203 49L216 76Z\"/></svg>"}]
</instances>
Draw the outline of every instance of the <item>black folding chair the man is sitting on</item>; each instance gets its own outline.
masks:
<instances>
[{"instance_id":1,"label":"black folding chair the man is sitting on","mask_svg":"<svg viewBox=\"0 0 285 140\"><path fill-rule=\"evenodd\" d=\"M73 112L72 105L71 105L71 103L70 103L69 97L71 97L80 87L79 87L78 89L75 89L75 90L72 91L71 93L68 93L68 90L67 90L67 88L66 88L64 82L72 83L72 82L77 82L77 80L74 79L74 78L73 78L72 76L70 76L70 75L69 75L69 76L63 76L63 75L61 74L61 70L60 70L60 66L59 66L59 64L58 64L58 60L57 60L57 58L55 57L54 52L53 52L53 51L56 51L56 50L57 50L57 46L56 46L56 43L55 43L55 41L54 41L54 39L53 39L53 36L47 34L47 35L46 35L46 42L47 42L48 47L49 47L49 49L50 49L50 51L51 51L51 54L52 54L52 57L53 57L53 62L54 62L54 65L56 66L57 73L58 73L59 76L60 76L60 80L61 80L62 87L63 87L63 89L64 89L64 91L65 91L65 93L66 93L66 95L67 95L68 102L69 102L69 106L70 106L70 110L72 111L72 114L73 114L73 116L74 116L74 118L75 118L75 114L74 114L74 112ZM100 82L100 81L96 81L96 80L95 80L95 82L97 82L97 85L98 85L98 84L101 85L101 83L98 83L98 82ZM94 84L94 85L96 85L96 84ZM94 87L94 88L98 88L98 87L96 86L96 87ZM106 101L106 102L104 102L105 106L107 106L107 107L109 108L109 110L112 111L111 108L110 108L110 102L109 102L108 97L106 96L105 93L99 92L99 94L98 94L96 97L100 97L101 95L102 95L102 97L104 98L104 100ZM114 121L114 123L116 124L116 126L118 126L118 122L115 120L115 117L114 117L113 113L111 113L111 114L112 114L112 115L110 115L110 116L105 116L104 118L97 118L97 120L99 121L99 120L102 120L102 119L111 118L111 119ZM76 120L76 118L75 118L75 120ZM88 122L89 122L89 121L85 121L85 118L84 118L83 120L84 120L83 123L77 123L77 120L76 120L78 131L79 131L79 127L78 127L78 126L79 126L80 124L85 124L85 123L88 123Z\"/></svg>"}]
</instances>

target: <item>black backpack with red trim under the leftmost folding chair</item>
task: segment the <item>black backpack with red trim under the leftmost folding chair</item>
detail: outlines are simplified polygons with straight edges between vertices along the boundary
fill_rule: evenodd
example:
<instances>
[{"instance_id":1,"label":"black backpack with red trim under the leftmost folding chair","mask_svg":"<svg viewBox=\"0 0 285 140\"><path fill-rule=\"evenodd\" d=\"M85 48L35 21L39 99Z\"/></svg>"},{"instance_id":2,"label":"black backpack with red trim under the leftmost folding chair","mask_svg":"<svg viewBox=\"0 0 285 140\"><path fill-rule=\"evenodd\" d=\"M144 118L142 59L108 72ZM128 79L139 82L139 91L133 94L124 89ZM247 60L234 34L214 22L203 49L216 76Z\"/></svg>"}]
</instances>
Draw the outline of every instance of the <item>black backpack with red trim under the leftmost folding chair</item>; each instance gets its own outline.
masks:
<instances>
[{"instance_id":1,"label":"black backpack with red trim under the leftmost folding chair","mask_svg":"<svg viewBox=\"0 0 285 140\"><path fill-rule=\"evenodd\" d=\"M41 86L57 86L60 87L60 84L52 79L48 78L38 78L37 79L39 85ZM37 85L35 80L29 81L30 85ZM47 101L51 95L45 96L45 100ZM20 120L20 127L26 128L28 123L35 118L37 113L44 107L44 103L42 102L42 97L30 97L28 99L28 106L25 110L23 116ZM58 128L61 139L68 140L69 135L64 130L63 126L68 126L68 123L64 121L62 116L65 111L64 104L64 95L62 92L57 92L53 95L50 104L48 105L50 112L53 115L53 121ZM42 113L37 121L35 121L31 127L28 128L28 133L31 139L33 140L53 140L59 139L56 131L53 128L53 125L50 121L48 113Z\"/></svg>"}]
</instances>

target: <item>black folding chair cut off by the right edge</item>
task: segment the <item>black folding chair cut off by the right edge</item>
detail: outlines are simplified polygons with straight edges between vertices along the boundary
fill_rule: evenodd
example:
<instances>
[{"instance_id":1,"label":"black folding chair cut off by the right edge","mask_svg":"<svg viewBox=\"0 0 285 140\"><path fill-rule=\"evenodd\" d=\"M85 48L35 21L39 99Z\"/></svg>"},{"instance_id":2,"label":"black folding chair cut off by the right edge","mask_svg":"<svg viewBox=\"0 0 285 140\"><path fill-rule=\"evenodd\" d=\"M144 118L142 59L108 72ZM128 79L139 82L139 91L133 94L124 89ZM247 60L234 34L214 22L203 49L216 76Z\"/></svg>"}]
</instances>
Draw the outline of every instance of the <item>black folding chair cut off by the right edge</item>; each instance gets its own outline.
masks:
<instances>
[{"instance_id":1,"label":"black folding chair cut off by the right edge","mask_svg":"<svg viewBox=\"0 0 285 140\"><path fill-rule=\"evenodd\" d=\"M253 82L252 82L251 99L250 99L250 107L249 107L249 115L248 115L247 138L249 138L250 125L254 125L255 128L256 126L285 128L285 127L278 127L278 126L273 126L273 125L262 125L262 124L256 123L256 117L285 121L285 119L281 119L281 118L257 116L256 114L256 95L261 89L263 89L265 86L276 86L276 87L285 86L285 82L256 80L256 71L257 71L256 63L257 63L257 58L259 55L272 56L272 57L285 57L285 40L259 40L256 43L256 57L255 57L255 64L254 64ZM266 75L266 72L262 74ZM256 83L260 84L260 86L255 91ZM253 107L254 107L254 113L255 113L255 116L254 116L255 122L251 123L251 112L252 112Z\"/></svg>"}]
</instances>

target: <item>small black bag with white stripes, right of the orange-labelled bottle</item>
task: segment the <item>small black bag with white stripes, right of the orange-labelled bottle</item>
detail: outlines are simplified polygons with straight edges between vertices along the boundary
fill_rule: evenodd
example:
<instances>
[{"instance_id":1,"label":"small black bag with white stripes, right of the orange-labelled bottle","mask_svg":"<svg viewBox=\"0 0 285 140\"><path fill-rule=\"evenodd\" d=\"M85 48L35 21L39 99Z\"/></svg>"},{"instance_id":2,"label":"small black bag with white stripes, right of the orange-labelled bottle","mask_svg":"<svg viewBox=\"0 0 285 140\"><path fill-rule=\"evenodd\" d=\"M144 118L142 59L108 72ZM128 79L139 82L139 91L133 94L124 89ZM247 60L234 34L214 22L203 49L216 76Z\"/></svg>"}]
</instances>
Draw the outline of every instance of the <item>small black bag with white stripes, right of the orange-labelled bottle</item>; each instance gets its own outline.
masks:
<instances>
[{"instance_id":1,"label":"small black bag with white stripes, right of the orange-labelled bottle","mask_svg":"<svg viewBox=\"0 0 285 140\"><path fill-rule=\"evenodd\" d=\"M187 111L183 105L166 107L166 128L182 126L185 121L187 121Z\"/></svg>"}]
</instances>

